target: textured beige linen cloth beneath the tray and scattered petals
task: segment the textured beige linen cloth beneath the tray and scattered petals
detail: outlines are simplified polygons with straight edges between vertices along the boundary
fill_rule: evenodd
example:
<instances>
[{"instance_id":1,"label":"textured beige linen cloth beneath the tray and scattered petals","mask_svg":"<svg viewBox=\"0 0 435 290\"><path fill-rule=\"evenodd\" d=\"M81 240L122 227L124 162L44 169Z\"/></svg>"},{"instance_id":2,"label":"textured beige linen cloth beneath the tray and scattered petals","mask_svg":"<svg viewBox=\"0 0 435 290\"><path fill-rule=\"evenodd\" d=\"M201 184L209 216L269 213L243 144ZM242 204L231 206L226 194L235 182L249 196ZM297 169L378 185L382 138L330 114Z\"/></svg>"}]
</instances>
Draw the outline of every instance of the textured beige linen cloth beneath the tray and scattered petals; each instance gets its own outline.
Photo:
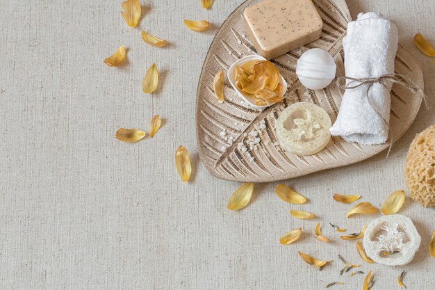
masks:
<instances>
[{"instance_id":1,"label":"textured beige linen cloth beneath the tray and scattered petals","mask_svg":"<svg viewBox=\"0 0 435 290\"><path fill-rule=\"evenodd\" d=\"M241 0L145 1L140 28L130 29L120 1L8 1L0 9L0 289L1 290L217 290L323 289L334 281L360 289L363 275L340 277L340 253L362 262L353 242L338 239L327 223L358 231L372 217L345 219L348 207L332 193L359 193L379 206L404 188L404 157L413 136L434 124L422 109L389 159L375 156L346 168L286 182L310 202L285 204L276 184L258 184L252 204L230 212L226 204L236 183L217 180L197 160L197 79L218 26ZM422 65L425 92L432 97L435 65L413 46L417 32L435 43L435 8L429 0L349 1L352 15L376 10L397 24L400 43ZM208 33L187 31L183 18L208 19ZM169 40L156 49L140 30ZM129 47L126 65L103 59ZM161 71L156 95L140 83L152 63ZM136 144L113 137L119 127L149 130L152 115L165 125L153 139ZM190 150L195 170L181 184L174 169L179 145ZM294 220L289 209L318 214ZM435 229L434 209L407 202L401 211L416 222L422 246L409 266L363 264L376 273L375 289L397 289L395 277L408 271L409 289L430 289L435 259L427 243ZM313 239L324 225L325 245ZM303 227L294 245L279 237ZM334 259L322 272L306 267L297 250Z\"/></svg>"}]
</instances>

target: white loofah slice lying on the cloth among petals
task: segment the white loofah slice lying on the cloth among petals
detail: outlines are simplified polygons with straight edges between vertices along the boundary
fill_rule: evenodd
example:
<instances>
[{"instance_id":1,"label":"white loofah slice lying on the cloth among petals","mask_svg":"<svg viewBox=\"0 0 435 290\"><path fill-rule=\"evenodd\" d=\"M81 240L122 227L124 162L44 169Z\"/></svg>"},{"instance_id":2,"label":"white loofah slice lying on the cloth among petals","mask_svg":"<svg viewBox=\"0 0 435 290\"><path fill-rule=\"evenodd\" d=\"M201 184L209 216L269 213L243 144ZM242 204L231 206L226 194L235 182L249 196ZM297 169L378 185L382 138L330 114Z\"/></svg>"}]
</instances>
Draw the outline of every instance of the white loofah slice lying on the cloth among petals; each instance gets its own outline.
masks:
<instances>
[{"instance_id":1,"label":"white loofah slice lying on the cloth among petals","mask_svg":"<svg viewBox=\"0 0 435 290\"><path fill-rule=\"evenodd\" d=\"M402 266L412 261L421 237L410 218L400 214L372 220L364 234L364 249L373 261Z\"/></svg>"}]
</instances>

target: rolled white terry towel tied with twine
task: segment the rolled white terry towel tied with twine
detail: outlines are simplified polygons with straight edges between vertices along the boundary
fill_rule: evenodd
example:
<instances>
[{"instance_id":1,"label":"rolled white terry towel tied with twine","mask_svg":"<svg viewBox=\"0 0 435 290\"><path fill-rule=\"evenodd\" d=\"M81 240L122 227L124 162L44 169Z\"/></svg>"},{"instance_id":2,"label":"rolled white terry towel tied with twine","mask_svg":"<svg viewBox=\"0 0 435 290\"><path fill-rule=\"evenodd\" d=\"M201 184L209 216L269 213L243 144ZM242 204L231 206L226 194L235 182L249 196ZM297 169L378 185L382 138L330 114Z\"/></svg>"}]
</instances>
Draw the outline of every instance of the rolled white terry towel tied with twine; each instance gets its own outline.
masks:
<instances>
[{"instance_id":1,"label":"rolled white terry towel tied with twine","mask_svg":"<svg viewBox=\"0 0 435 290\"><path fill-rule=\"evenodd\" d=\"M355 79L376 78L394 73L394 59L399 36L395 24L380 13L360 13L358 19L347 24L343 38L345 72ZM347 85L351 81L347 81ZM352 83L355 85L358 83ZM388 126L377 111L389 122L392 83L374 83L367 99L367 86L347 89L341 102L331 135L342 136L347 142L361 145L386 143Z\"/></svg>"}]
</instances>

